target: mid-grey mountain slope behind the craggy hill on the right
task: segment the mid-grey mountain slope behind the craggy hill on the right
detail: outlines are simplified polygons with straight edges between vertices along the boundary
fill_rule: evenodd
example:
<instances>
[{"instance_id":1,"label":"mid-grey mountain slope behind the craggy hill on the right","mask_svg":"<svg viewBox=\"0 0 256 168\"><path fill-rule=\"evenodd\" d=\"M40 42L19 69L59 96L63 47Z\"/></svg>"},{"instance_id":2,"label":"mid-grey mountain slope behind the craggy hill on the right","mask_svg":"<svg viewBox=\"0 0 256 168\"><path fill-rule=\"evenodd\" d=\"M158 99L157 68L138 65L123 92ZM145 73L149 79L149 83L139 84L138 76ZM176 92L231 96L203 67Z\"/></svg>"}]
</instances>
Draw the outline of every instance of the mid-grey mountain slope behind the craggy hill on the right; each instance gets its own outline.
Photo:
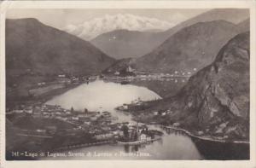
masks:
<instances>
[{"instance_id":1,"label":"mid-grey mountain slope behind the craggy hill on the right","mask_svg":"<svg viewBox=\"0 0 256 168\"><path fill-rule=\"evenodd\" d=\"M247 21L237 25L225 20L198 22L176 32L148 55L119 61L122 66L113 64L105 72L128 66L142 72L195 72L210 64L230 38L247 31L247 25Z\"/></svg>"}]
</instances>

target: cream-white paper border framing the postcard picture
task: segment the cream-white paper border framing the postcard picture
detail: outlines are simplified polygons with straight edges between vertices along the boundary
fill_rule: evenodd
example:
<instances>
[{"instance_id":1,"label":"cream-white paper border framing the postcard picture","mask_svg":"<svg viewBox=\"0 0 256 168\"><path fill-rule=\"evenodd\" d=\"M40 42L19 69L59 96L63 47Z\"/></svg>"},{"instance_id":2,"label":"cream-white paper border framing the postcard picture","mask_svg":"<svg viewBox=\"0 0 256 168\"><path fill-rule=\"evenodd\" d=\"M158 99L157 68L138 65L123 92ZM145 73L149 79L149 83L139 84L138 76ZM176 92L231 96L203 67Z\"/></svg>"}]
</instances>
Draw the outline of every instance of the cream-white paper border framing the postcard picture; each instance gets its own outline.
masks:
<instances>
[{"instance_id":1,"label":"cream-white paper border framing the postcard picture","mask_svg":"<svg viewBox=\"0 0 256 168\"><path fill-rule=\"evenodd\" d=\"M255 2L254 1L13 1L0 3L0 108L1 108L1 159L3 167L256 167L255 147L255 106L256 105L256 65L255 65ZM5 39L4 21L8 9L226 9L244 8L251 12L251 55L250 55L250 160L53 160L53 161L6 161L5 160Z\"/></svg>"}]
</instances>

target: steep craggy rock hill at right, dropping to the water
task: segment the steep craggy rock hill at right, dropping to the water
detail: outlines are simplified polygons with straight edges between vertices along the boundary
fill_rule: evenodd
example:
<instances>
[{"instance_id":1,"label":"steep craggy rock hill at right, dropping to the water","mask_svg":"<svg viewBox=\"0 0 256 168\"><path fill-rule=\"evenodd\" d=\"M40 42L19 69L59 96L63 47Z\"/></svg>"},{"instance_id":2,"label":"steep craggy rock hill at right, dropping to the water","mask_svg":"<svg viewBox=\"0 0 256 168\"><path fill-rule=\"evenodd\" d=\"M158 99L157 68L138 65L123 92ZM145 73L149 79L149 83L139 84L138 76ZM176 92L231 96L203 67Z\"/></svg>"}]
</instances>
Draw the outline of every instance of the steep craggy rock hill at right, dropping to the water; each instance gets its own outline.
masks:
<instances>
[{"instance_id":1,"label":"steep craggy rock hill at right, dropping to the water","mask_svg":"<svg viewBox=\"0 0 256 168\"><path fill-rule=\"evenodd\" d=\"M162 120L178 122L201 135L249 140L249 32L232 38L209 66L201 69L177 96L153 101L151 111L169 110ZM147 110L148 112L148 110Z\"/></svg>"}]
</instances>

